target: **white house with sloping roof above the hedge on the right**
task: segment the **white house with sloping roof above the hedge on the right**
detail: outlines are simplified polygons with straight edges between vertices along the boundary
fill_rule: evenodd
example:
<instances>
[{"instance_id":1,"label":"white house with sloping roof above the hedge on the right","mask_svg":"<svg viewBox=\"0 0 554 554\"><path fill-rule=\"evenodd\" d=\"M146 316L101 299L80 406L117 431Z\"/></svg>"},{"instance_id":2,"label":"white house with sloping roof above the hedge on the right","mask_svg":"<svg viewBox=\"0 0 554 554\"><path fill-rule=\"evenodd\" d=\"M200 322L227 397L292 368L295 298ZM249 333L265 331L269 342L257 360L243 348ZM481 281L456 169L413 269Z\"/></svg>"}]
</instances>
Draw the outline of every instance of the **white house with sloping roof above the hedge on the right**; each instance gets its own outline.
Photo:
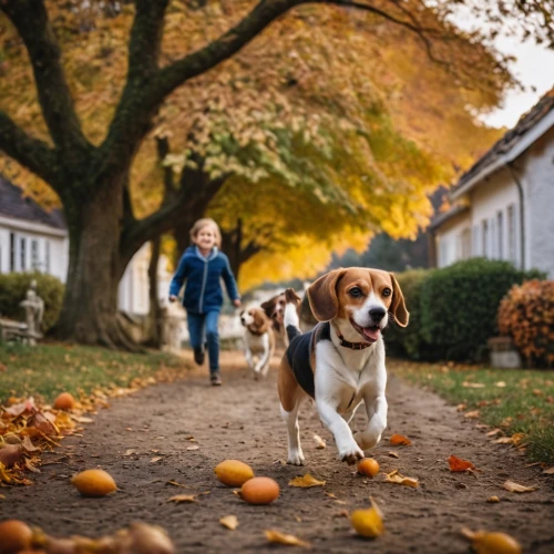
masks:
<instances>
[{"instance_id":1,"label":"white house with sloping roof above the hedge on the right","mask_svg":"<svg viewBox=\"0 0 554 554\"><path fill-rule=\"evenodd\" d=\"M431 223L435 265L484 256L554 279L554 89L450 191Z\"/></svg>"}]
</instances>

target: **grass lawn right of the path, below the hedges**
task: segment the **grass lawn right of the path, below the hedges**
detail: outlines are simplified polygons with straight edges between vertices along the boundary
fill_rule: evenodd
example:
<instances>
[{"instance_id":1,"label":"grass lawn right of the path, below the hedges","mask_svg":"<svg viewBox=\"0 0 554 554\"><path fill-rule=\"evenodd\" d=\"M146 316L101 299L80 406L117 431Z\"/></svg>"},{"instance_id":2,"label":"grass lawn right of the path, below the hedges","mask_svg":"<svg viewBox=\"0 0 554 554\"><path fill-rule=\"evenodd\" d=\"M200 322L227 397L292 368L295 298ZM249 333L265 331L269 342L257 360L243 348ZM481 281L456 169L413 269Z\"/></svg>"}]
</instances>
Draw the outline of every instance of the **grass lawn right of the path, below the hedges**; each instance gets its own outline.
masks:
<instances>
[{"instance_id":1,"label":"grass lawn right of the path, below the hedges","mask_svg":"<svg viewBox=\"0 0 554 554\"><path fill-rule=\"evenodd\" d=\"M409 381L429 387L447 401L465 404L507 437L524 433L531 461L554 463L554 371L490 369L402 362L388 368ZM484 387L481 387L484 384ZM476 387L475 387L476 386ZM500 437L500 435L499 435Z\"/></svg>"}]
</instances>

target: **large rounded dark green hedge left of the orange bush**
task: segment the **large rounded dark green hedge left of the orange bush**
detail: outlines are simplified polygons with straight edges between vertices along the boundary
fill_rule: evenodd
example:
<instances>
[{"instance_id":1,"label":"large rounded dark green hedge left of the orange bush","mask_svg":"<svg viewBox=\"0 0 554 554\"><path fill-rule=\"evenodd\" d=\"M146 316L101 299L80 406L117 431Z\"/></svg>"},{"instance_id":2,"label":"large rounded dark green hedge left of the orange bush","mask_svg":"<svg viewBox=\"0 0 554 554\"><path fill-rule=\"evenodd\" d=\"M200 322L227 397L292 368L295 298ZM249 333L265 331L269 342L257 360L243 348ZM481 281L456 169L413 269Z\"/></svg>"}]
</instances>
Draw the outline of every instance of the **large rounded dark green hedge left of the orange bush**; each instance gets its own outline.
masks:
<instances>
[{"instance_id":1,"label":"large rounded dark green hedge left of the orange bush","mask_svg":"<svg viewBox=\"0 0 554 554\"><path fill-rule=\"evenodd\" d=\"M434 270L422 284L421 336L432 359L481 360L497 334L500 301L513 285L544 278L509 261L472 258Z\"/></svg>"}]
</instances>

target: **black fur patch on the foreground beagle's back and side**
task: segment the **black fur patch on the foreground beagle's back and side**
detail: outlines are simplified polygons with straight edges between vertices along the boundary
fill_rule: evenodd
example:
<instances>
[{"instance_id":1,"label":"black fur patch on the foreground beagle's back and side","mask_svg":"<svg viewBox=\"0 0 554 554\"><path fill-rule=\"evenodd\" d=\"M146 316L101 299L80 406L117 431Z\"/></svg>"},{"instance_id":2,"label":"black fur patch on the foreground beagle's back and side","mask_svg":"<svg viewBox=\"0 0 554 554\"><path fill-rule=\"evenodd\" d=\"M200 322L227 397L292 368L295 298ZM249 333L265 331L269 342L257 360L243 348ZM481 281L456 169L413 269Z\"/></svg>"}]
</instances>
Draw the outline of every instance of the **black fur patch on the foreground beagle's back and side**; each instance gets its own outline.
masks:
<instances>
[{"instance_id":1,"label":"black fur patch on the foreground beagle's back and side","mask_svg":"<svg viewBox=\"0 0 554 554\"><path fill-rule=\"evenodd\" d=\"M288 331L289 329L287 329ZM316 396L315 368L311 367L311 360L314 359L316 345L320 340L331 340L331 326L329 322L318 324L311 331L296 335L290 339L286 351L287 361L295 373L298 384L311 398Z\"/></svg>"}]
</instances>

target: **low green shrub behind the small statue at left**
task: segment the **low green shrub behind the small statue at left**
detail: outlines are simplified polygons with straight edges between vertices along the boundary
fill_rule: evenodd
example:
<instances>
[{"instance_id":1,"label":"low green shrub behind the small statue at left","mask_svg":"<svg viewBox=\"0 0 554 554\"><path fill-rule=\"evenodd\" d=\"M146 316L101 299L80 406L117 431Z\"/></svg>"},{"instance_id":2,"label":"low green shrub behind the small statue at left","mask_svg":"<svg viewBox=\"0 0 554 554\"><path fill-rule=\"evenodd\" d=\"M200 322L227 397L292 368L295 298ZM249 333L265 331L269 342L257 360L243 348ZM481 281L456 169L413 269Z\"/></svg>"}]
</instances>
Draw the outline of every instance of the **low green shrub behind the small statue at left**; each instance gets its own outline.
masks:
<instances>
[{"instance_id":1,"label":"low green shrub behind the small statue at left","mask_svg":"<svg viewBox=\"0 0 554 554\"><path fill-rule=\"evenodd\" d=\"M58 320L64 286L57 277L41 273L0 275L0 315L24 321L25 312L19 305L25 299L31 281L37 280L37 294L44 300L42 330L48 331Z\"/></svg>"}]
</instances>

